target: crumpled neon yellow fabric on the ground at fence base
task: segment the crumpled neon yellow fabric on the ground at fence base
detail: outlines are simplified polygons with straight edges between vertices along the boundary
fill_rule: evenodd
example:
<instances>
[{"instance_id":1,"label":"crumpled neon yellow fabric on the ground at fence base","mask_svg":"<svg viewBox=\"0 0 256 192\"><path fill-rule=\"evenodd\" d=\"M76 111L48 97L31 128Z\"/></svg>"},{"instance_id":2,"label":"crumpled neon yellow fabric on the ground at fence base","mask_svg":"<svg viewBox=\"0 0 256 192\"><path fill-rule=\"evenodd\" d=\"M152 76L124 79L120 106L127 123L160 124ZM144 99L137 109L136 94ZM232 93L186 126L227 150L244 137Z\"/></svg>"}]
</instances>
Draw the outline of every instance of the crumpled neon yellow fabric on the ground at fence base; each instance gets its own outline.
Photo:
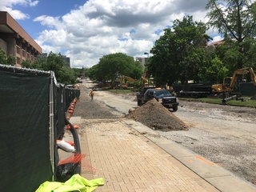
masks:
<instances>
[{"instance_id":1,"label":"crumpled neon yellow fabric on the ground at fence base","mask_svg":"<svg viewBox=\"0 0 256 192\"><path fill-rule=\"evenodd\" d=\"M82 178L79 174L74 174L66 182L44 182L38 187L36 192L70 192L73 190L90 192L103 185L103 178L95 178L89 181L86 178Z\"/></svg>"}]
</instances>

